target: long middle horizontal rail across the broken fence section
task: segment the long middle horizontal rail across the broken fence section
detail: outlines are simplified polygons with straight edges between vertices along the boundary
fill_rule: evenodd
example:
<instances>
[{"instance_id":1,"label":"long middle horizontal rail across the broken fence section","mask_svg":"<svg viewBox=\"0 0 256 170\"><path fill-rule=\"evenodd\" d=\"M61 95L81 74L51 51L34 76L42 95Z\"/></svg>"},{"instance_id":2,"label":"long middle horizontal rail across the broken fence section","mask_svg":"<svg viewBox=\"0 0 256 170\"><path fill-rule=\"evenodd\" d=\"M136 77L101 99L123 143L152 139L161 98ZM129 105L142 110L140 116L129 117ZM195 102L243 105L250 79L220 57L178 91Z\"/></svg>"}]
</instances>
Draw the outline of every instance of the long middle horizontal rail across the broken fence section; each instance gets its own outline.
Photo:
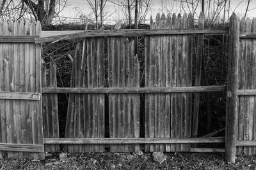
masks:
<instances>
[{"instance_id":1,"label":"long middle horizontal rail across the broken fence section","mask_svg":"<svg viewBox=\"0 0 256 170\"><path fill-rule=\"evenodd\" d=\"M225 92L227 86L198 86L198 87L127 87L127 88L70 88L45 87L42 93L84 93L84 94L146 94L146 93L183 93L183 92Z\"/></svg>"}]
</instances>

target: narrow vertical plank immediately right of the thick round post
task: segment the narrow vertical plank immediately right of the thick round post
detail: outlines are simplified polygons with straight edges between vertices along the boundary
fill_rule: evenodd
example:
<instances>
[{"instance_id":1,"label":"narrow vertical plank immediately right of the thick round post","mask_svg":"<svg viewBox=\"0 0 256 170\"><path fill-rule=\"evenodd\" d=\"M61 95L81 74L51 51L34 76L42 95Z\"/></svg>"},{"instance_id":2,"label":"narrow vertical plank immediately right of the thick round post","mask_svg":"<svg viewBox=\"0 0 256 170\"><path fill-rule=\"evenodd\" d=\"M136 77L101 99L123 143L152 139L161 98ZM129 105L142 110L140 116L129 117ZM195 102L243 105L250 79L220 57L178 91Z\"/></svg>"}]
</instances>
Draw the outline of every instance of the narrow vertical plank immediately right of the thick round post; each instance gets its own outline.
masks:
<instances>
[{"instance_id":1,"label":"narrow vertical plank immediately right of the thick round post","mask_svg":"<svg viewBox=\"0 0 256 170\"><path fill-rule=\"evenodd\" d=\"M244 18L241 19L240 22L240 32L246 32L246 21ZM239 89L245 90L245 64L246 64L246 39L241 39L241 43L239 46ZM243 140L244 139L244 115L245 115L245 108L246 108L246 97L239 96L239 115L238 115L238 132L237 132L237 139ZM237 153L243 153L243 146L237 146Z\"/></svg>"}]
</instances>

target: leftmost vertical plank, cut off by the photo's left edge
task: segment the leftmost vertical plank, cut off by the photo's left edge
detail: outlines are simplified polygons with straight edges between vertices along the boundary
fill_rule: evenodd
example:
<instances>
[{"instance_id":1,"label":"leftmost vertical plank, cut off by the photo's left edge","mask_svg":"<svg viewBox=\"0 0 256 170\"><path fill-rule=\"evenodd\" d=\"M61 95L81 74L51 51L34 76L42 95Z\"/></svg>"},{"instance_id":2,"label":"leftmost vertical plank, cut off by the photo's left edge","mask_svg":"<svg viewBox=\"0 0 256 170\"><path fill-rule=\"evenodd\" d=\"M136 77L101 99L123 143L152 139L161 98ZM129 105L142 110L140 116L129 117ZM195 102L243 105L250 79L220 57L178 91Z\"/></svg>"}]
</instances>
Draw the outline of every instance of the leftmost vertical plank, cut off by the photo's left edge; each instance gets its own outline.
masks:
<instances>
[{"instance_id":1,"label":"leftmost vertical plank, cut off by the photo's left edge","mask_svg":"<svg viewBox=\"0 0 256 170\"><path fill-rule=\"evenodd\" d=\"M0 22L0 35L3 35L3 22ZM1 71L0 71L0 92L1 91L4 91L4 53L3 53L3 43L0 43L0 68ZM6 130L4 129L4 124L6 124L5 122L5 111L4 111L4 100L3 99L0 99L0 142L1 143L4 143L5 140L6 140L6 136L5 136L5 133L6 133ZM0 159L3 158L4 152L0 152Z\"/></svg>"}]
</instances>

